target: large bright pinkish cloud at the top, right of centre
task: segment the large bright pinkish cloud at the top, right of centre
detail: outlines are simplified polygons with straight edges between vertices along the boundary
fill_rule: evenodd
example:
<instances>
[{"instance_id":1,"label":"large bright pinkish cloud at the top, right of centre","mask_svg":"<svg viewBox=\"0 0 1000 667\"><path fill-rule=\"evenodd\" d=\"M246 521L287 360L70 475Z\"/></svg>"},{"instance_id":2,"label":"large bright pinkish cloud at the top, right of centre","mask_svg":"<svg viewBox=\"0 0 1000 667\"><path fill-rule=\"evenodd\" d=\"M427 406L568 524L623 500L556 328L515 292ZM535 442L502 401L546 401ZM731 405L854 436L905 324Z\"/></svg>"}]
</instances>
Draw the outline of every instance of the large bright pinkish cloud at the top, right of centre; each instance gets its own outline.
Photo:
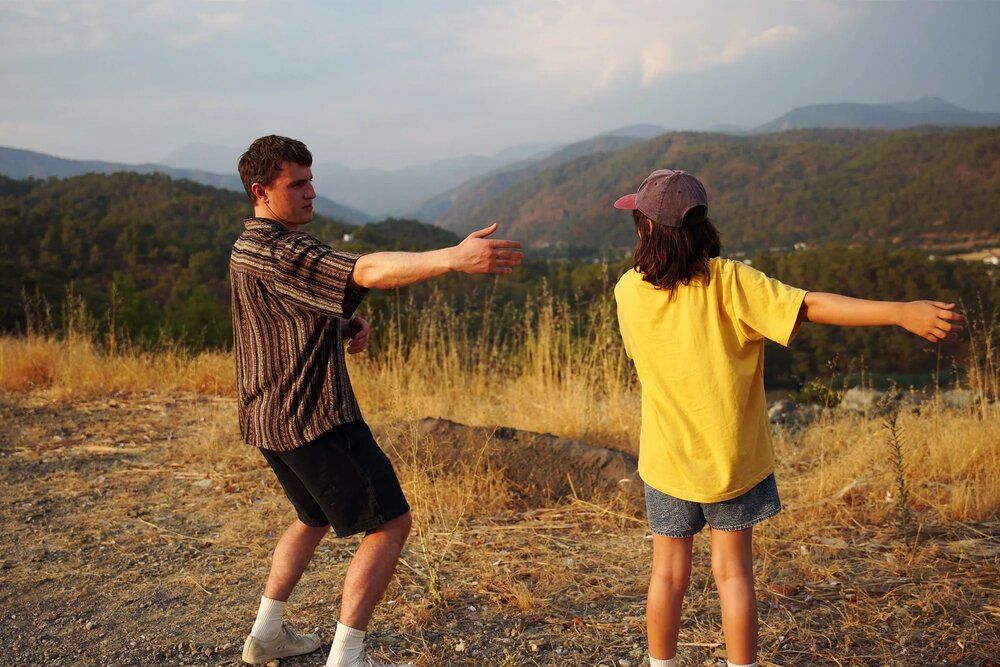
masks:
<instances>
[{"instance_id":1,"label":"large bright pinkish cloud at the top, right of centre","mask_svg":"<svg viewBox=\"0 0 1000 667\"><path fill-rule=\"evenodd\" d=\"M843 25L849 6L661 0L508 0L448 21L453 56L501 80L582 95L738 64Z\"/></svg>"}]
</instances>

